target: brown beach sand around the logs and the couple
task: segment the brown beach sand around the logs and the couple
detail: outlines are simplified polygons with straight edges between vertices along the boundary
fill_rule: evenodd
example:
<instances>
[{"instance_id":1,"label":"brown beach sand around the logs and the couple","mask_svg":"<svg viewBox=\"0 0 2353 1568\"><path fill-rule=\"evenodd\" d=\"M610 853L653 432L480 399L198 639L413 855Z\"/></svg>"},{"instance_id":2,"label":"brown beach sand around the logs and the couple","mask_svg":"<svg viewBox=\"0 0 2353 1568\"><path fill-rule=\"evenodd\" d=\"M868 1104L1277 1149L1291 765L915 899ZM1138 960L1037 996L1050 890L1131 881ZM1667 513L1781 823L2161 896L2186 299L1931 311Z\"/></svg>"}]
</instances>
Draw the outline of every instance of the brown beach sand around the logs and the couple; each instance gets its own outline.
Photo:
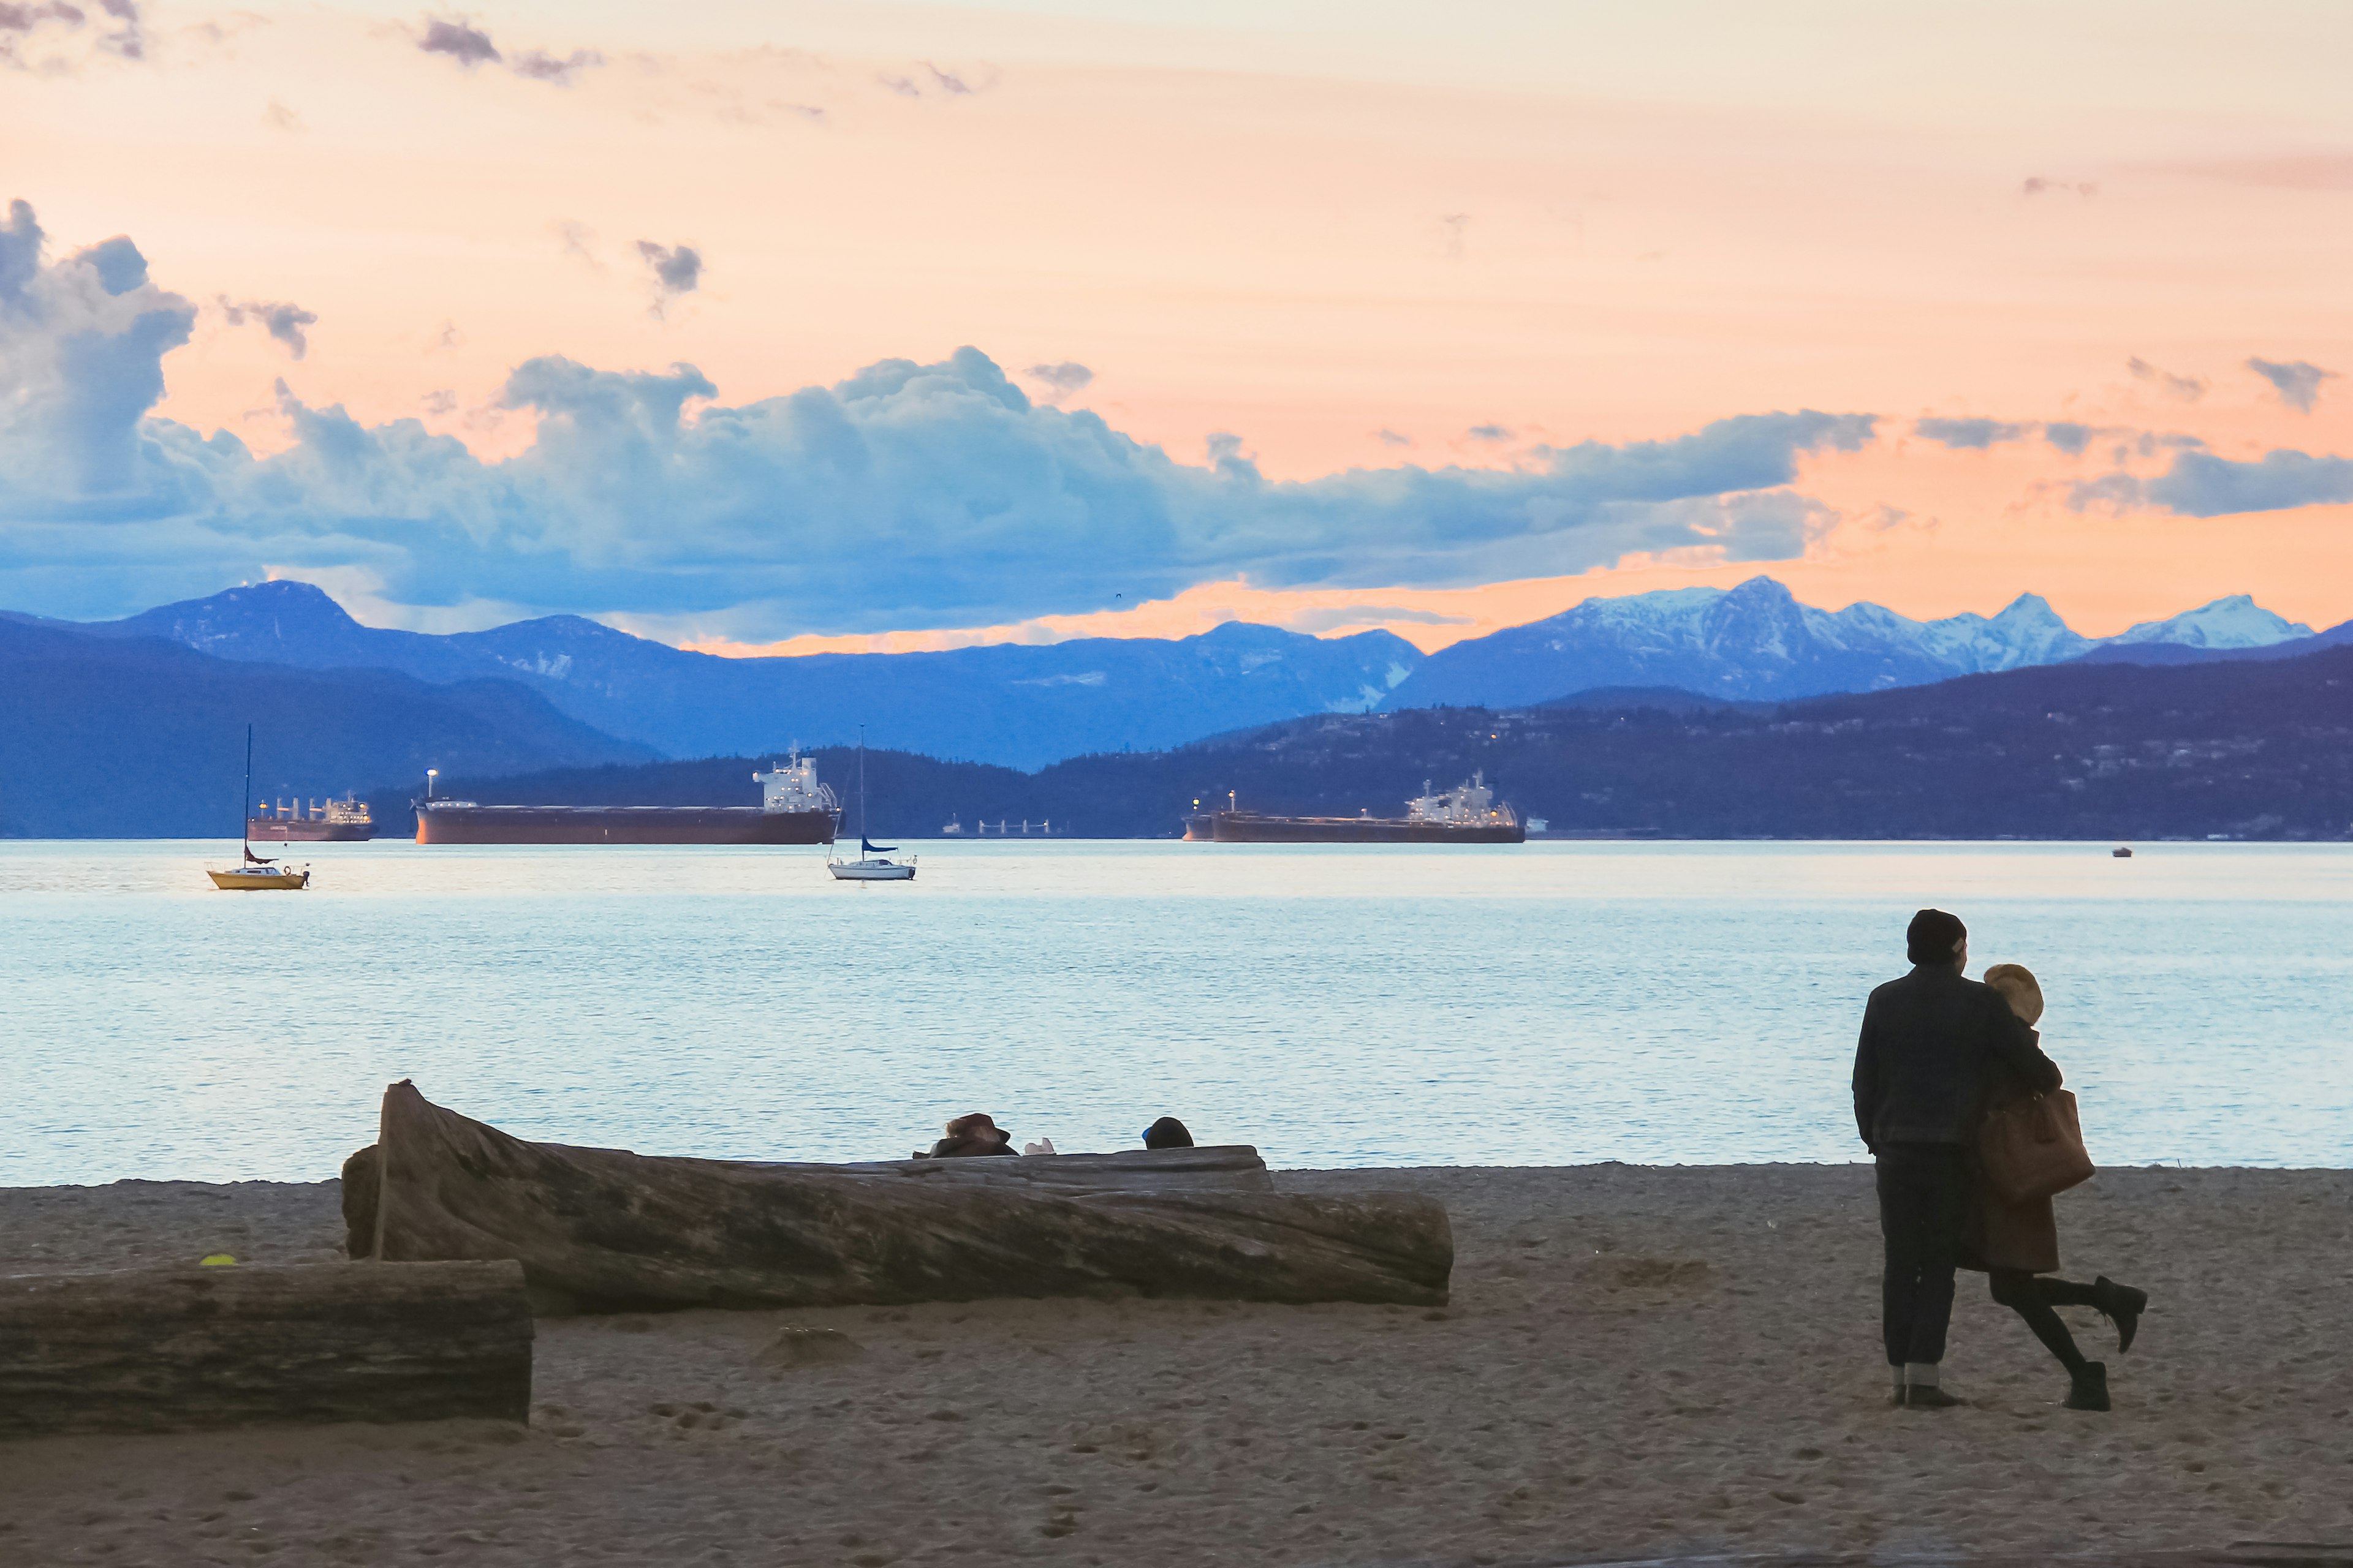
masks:
<instances>
[{"instance_id":1,"label":"brown beach sand around the logs and the couple","mask_svg":"<svg viewBox=\"0 0 2353 1568\"><path fill-rule=\"evenodd\" d=\"M1887 1408L1866 1166L1289 1171L1428 1192L1454 1305L541 1321L529 1429L0 1446L0 1561L1398 1563L2353 1540L2353 1173L2108 1171L2068 1276L2155 1305L2115 1410L1962 1274ZM0 1272L339 1258L336 1187L0 1190ZM774 1371L784 1326L864 1354Z\"/></svg>"}]
</instances>

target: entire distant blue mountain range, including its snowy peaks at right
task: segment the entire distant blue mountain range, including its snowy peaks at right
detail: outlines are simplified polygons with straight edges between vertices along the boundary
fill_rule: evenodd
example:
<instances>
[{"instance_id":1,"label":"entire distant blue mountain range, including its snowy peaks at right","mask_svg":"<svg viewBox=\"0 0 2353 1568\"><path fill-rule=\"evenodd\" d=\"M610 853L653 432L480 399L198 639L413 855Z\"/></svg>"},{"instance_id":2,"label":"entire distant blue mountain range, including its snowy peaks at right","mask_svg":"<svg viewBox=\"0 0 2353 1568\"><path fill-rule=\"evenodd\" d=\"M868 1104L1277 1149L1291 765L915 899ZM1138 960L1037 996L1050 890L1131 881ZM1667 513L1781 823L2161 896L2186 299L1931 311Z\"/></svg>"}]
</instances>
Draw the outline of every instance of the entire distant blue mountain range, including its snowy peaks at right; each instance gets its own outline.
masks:
<instances>
[{"instance_id":1,"label":"entire distant blue mountain range, including its snowy peaks at right","mask_svg":"<svg viewBox=\"0 0 2353 1568\"><path fill-rule=\"evenodd\" d=\"M426 684L513 682L558 712L666 757L838 745L1038 769L1061 757L1167 750L1318 712L1518 708L1657 686L1781 703L2028 665L2285 656L2313 635L2245 595L2118 637L2082 637L2035 595L1998 616L1913 621L1878 604L1824 611L1774 578L1586 599L1558 616L1424 656L1388 632L1306 637L1226 623L1198 637L1089 637L944 654L720 658L581 616L485 632L369 628L308 583L256 583L106 623L16 621L89 637L160 637L214 658L304 670L393 670ZM391 783L391 780L379 780Z\"/></svg>"}]
</instances>

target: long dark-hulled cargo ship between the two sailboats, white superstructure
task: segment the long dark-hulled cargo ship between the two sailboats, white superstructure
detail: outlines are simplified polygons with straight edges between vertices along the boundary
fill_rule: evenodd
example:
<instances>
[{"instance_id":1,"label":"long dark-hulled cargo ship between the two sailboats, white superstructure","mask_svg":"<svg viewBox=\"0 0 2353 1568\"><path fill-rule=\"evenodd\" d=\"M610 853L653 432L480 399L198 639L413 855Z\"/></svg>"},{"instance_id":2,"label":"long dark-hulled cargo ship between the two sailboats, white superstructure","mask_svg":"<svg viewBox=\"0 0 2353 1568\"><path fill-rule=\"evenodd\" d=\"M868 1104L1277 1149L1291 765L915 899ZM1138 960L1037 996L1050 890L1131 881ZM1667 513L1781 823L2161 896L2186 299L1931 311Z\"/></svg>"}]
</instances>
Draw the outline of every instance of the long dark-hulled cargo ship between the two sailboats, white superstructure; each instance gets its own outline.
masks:
<instances>
[{"instance_id":1,"label":"long dark-hulled cargo ship between the two sailboats, white superstructure","mask_svg":"<svg viewBox=\"0 0 2353 1568\"><path fill-rule=\"evenodd\" d=\"M753 773L758 806L482 806L426 799L419 844L831 844L842 806L816 783L816 759L798 750Z\"/></svg>"}]
</instances>

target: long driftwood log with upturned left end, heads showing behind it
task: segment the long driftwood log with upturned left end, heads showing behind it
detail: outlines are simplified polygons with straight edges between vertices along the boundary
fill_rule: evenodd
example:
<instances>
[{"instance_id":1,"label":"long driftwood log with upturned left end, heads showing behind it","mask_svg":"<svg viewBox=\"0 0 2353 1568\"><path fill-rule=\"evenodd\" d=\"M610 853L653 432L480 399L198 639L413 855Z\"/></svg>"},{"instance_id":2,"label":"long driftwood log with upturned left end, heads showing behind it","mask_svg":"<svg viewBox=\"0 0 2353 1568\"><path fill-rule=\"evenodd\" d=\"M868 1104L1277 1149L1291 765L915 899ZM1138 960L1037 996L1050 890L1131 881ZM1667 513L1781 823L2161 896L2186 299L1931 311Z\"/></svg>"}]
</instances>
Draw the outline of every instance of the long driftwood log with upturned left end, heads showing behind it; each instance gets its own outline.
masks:
<instances>
[{"instance_id":1,"label":"long driftwood log with upturned left end, heads showing behind it","mask_svg":"<svg viewBox=\"0 0 2353 1568\"><path fill-rule=\"evenodd\" d=\"M353 1258L513 1258L544 1312L1447 1300L1454 1237L1433 1199L1205 1187L1266 1182L1257 1152L1245 1166L1231 1150L1172 1150L1162 1171L1174 1180L1144 1190L1045 1175L1080 1159L767 1166L579 1150L522 1143L400 1081L384 1091L374 1147L344 1166L344 1218ZM1162 1154L1092 1159L1129 1182Z\"/></svg>"}]
</instances>

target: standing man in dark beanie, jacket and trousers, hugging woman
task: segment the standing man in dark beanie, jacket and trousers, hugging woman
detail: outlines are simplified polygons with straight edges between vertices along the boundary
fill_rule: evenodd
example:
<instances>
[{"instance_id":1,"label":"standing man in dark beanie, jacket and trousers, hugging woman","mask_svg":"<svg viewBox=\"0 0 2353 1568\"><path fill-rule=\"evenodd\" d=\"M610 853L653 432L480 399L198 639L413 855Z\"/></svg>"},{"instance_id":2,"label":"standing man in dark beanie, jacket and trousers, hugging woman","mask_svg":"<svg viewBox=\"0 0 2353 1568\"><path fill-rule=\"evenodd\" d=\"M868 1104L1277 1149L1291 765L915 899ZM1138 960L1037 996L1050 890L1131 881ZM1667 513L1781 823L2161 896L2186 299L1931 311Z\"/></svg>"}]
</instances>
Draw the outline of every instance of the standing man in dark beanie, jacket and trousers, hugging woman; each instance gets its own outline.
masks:
<instances>
[{"instance_id":1,"label":"standing man in dark beanie, jacket and trousers, hugging woman","mask_svg":"<svg viewBox=\"0 0 2353 1568\"><path fill-rule=\"evenodd\" d=\"M1894 1403L1958 1406L1939 1387L1953 1267L1969 1218L1972 1143L1995 1063L2031 1088L2059 1086L2035 1032L1991 985L1962 978L1969 929L1920 910L1904 931L1913 971L1871 992L1854 1046L1854 1126L1878 1161L1887 1274L1880 1314Z\"/></svg>"}]
</instances>

